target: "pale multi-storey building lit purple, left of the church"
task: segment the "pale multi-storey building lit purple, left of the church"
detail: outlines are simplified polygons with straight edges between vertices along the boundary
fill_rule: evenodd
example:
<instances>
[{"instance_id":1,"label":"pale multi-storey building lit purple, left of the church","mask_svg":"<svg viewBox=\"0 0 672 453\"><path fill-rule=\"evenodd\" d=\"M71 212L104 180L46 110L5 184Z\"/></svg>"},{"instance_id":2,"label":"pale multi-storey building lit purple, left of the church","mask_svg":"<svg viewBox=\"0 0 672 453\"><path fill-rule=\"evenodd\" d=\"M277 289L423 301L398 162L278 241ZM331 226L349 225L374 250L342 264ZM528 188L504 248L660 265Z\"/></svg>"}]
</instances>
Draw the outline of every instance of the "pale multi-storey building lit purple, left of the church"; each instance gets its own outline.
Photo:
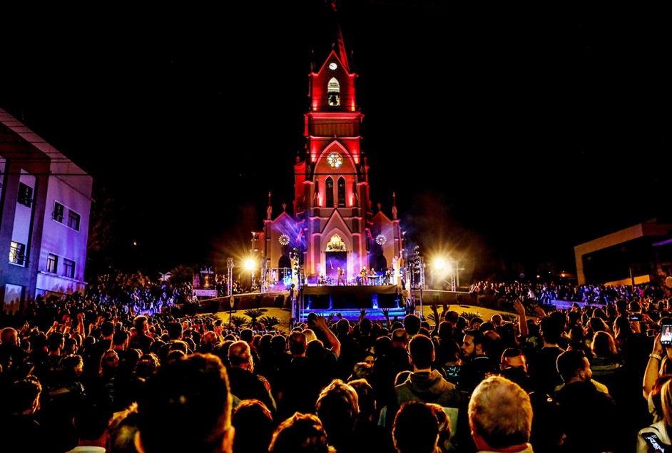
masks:
<instances>
[{"instance_id":1,"label":"pale multi-storey building lit purple, left of the church","mask_svg":"<svg viewBox=\"0 0 672 453\"><path fill-rule=\"evenodd\" d=\"M83 290L93 178L0 109L0 300Z\"/></svg>"}]
</instances>

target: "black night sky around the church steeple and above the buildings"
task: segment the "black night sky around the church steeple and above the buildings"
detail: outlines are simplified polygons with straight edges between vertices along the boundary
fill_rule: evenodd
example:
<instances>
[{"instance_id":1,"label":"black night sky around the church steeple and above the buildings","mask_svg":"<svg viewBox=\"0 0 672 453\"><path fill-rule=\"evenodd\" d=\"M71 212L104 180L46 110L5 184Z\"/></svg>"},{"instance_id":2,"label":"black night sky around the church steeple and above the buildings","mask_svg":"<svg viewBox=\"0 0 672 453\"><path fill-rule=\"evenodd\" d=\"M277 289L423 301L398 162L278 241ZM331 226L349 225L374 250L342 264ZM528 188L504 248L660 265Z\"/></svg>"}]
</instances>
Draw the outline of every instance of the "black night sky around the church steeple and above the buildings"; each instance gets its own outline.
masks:
<instances>
[{"instance_id":1,"label":"black night sky around the church steeple and above the buildings","mask_svg":"<svg viewBox=\"0 0 672 453\"><path fill-rule=\"evenodd\" d=\"M0 107L93 175L120 243L161 272L248 248L269 191L274 215L292 205L323 2L242 3L0 27ZM667 215L663 11L448 3L337 1L375 211L396 193L423 254L482 276L573 270L574 245Z\"/></svg>"}]
</instances>

